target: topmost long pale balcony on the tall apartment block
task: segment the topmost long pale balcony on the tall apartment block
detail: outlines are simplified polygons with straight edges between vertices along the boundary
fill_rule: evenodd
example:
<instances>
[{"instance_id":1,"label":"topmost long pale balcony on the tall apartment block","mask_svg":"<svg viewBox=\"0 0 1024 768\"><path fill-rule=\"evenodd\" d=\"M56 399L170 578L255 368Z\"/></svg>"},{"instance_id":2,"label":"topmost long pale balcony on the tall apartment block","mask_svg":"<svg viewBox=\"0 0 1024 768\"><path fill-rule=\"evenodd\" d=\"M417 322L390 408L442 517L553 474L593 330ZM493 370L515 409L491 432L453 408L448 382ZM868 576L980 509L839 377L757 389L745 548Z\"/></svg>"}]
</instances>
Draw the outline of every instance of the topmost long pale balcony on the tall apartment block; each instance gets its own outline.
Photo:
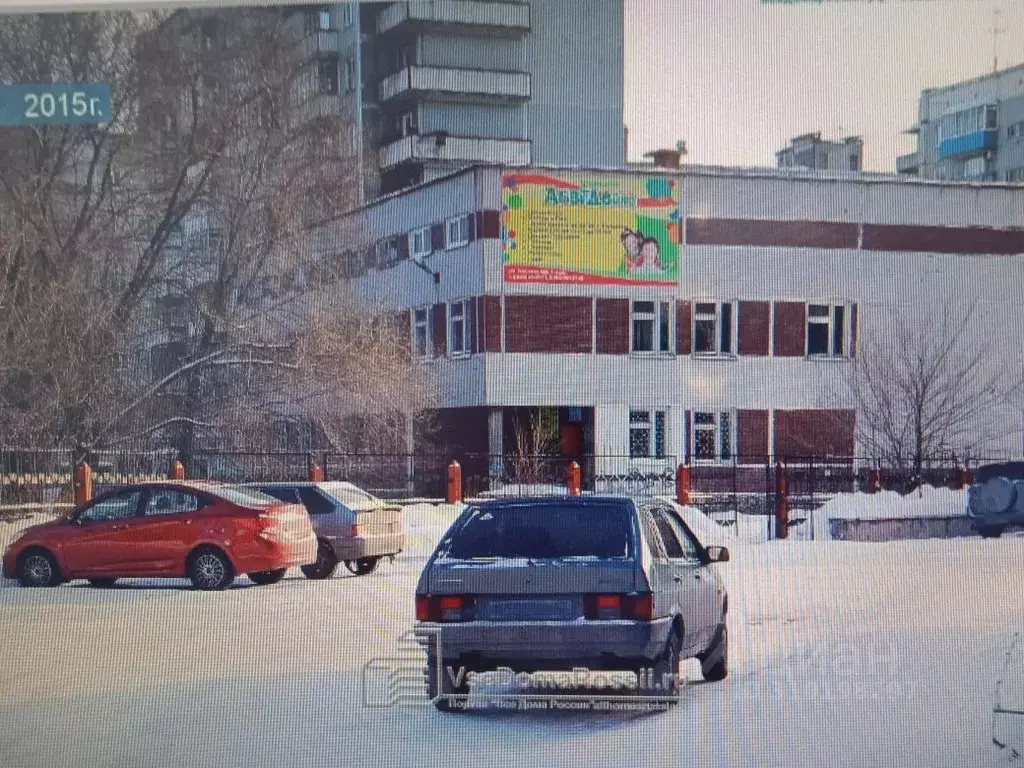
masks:
<instances>
[{"instance_id":1,"label":"topmost long pale balcony on the tall apartment block","mask_svg":"<svg viewBox=\"0 0 1024 768\"><path fill-rule=\"evenodd\" d=\"M529 32L529 5L480 0L427 0L392 3L377 16L377 32L402 27L422 32L459 29L466 34L522 37Z\"/></svg>"}]
</instances>

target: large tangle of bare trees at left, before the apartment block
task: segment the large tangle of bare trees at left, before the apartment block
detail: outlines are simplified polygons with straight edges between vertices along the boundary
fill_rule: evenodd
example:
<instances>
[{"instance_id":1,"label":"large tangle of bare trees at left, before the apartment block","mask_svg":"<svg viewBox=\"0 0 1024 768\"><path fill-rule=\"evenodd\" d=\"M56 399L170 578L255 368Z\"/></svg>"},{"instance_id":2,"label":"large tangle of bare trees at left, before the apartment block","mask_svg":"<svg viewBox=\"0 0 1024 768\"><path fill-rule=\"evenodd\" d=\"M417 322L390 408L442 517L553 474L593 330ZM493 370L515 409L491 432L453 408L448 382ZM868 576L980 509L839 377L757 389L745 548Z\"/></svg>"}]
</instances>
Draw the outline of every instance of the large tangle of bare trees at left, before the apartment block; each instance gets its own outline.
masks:
<instances>
[{"instance_id":1,"label":"large tangle of bare trees at left, before the apartment block","mask_svg":"<svg viewBox=\"0 0 1024 768\"><path fill-rule=\"evenodd\" d=\"M188 454L299 420L334 443L429 401L399 329L338 289L362 180L304 34L274 8L0 25L3 79L114 94L105 124L0 142L6 435Z\"/></svg>"}]
</instances>

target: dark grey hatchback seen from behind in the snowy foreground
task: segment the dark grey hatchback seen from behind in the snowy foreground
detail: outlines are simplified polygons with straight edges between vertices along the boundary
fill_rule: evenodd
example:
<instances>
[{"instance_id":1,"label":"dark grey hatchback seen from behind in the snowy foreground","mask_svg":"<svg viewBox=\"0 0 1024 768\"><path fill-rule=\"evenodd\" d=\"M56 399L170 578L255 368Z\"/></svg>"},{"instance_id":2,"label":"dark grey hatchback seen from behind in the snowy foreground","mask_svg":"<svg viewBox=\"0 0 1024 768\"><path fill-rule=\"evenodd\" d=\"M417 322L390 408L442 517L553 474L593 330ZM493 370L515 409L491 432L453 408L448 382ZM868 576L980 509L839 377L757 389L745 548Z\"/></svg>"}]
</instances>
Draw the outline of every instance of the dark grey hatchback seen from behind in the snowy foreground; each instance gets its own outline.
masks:
<instances>
[{"instance_id":1,"label":"dark grey hatchback seen from behind in the snowy foreground","mask_svg":"<svg viewBox=\"0 0 1024 768\"><path fill-rule=\"evenodd\" d=\"M682 659L728 672L728 598L668 503L612 497L484 502L441 538L416 588L427 695L461 710L474 673L615 670L674 696Z\"/></svg>"}]
</instances>

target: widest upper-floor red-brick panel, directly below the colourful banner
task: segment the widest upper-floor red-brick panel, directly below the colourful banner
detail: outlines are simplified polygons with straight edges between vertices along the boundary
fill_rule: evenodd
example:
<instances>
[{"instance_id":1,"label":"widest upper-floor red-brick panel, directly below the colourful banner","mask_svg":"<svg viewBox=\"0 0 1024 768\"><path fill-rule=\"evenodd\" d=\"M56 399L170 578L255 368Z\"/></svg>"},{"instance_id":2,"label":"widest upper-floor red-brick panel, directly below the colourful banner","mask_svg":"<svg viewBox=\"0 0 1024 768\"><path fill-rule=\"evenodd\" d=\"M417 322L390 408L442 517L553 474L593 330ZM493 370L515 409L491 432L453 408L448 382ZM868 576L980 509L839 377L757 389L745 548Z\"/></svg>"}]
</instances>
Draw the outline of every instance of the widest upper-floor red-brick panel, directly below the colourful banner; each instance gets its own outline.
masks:
<instances>
[{"instance_id":1,"label":"widest upper-floor red-brick panel, directly below the colourful banner","mask_svg":"<svg viewBox=\"0 0 1024 768\"><path fill-rule=\"evenodd\" d=\"M593 299L506 296L505 351L592 352Z\"/></svg>"}]
</instances>

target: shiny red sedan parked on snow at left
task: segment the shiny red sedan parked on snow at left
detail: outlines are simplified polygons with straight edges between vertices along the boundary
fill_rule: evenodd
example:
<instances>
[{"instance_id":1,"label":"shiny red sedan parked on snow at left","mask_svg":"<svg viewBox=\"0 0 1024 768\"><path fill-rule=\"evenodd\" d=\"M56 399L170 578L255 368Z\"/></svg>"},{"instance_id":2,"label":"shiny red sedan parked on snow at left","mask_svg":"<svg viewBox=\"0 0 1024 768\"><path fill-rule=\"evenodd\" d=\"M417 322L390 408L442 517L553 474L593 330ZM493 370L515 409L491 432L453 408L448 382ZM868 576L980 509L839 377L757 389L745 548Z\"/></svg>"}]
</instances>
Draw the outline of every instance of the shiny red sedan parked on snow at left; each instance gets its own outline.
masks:
<instances>
[{"instance_id":1,"label":"shiny red sedan parked on snow at left","mask_svg":"<svg viewBox=\"0 0 1024 768\"><path fill-rule=\"evenodd\" d=\"M306 510L249 488L155 482L103 494L69 516L23 530L3 556L3 574L26 587L87 579L187 577L220 590L246 573L274 584L316 560Z\"/></svg>"}]
</instances>

